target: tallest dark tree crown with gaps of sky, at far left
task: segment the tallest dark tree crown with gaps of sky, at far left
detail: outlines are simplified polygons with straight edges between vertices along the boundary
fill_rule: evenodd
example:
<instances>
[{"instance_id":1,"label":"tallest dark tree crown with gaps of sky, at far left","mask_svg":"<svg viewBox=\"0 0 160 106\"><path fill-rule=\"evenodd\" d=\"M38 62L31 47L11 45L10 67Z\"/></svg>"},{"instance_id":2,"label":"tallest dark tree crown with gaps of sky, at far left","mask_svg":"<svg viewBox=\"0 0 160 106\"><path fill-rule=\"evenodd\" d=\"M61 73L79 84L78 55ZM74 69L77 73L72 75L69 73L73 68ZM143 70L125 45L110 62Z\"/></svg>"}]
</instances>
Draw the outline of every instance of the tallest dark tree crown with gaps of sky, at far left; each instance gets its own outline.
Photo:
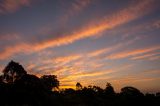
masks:
<instances>
[{"instance_id":1,"label":"tallest dark tree crown with gaps of sky, at far left","mask_svg":"<svg viewBox=\"0 0 160 106\"><path fill-rule=\"evenodd\" d=\"M11 61L3 70L3 74L4 82L13 83L15 80L20 79L22 76L26 75L27 72L24 70L22 65Z\"/></svg>"}]
</instances>

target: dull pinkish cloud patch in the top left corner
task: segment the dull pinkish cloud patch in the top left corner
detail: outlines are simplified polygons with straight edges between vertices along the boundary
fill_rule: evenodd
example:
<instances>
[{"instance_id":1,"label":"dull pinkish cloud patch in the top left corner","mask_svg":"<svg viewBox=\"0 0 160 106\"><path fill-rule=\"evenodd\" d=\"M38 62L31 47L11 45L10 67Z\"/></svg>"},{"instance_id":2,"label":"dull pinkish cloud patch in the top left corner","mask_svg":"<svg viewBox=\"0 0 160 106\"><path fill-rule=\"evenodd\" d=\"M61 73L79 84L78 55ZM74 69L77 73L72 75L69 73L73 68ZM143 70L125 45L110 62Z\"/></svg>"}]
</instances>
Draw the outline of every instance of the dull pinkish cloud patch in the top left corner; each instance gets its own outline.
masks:
<instances>
[{"instance_id":1,"label":"dull pinkish cloud patch in the top left corner","mask_svg":"<svg viewBox=\"0 0 160 106\"><path fill-rule=\"evenodd\" d=\"M0 5L0 13L13 13L23 6L29 6L31 0L3 0Z\"/></svg>"}]
</instances>

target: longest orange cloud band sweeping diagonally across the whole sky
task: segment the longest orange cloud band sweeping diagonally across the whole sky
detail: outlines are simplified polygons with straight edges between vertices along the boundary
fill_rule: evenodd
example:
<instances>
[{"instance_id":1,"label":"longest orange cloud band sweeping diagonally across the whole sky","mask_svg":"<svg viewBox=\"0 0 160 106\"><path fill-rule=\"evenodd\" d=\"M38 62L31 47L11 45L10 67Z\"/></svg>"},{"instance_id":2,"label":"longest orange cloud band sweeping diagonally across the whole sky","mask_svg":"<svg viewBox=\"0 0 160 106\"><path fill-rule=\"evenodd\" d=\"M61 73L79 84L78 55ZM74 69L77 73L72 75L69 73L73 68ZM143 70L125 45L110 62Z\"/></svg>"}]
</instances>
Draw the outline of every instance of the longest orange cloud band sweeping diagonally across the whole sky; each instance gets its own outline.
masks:
<instances>
[{"instance_id":1,"label":"longest orange cloud band sweeping diagonally across the whole sky","mask_svg":"<svg viewBox=\"0 0 160 106\"><path fill-rule=\"evenodd\" d=\"M109 29L112 29L121 24L127 23L129 21L132 21L134 19L137 19L138 17L141 17L149 13L152 10L150 8L150 6L152 6L151 5L152 2L153 2L152 0L142 0L137 4L129 5L127 8L122 9L119 12L112 14L111 16L107 16L100 21L96 20L87 25L84 25L84 27L80 28L77 31L72 31L70 34L65 34L61 37L49 39L47 41L43 41L43 42L36 43L36 44L34 43L28 44L28 45L22 44L22 46L24 45L24 47L20 46L21 49L18 49L18 51L15 51L13 47L10 47L10 49L5 49L5 51L1 52L1 54L5 56L1 55L0 59L2 60L18 52L23 52L24 49L26 49L25 51L30 50L30 52L35 52L35 51L43 50L49 47L56 47L56 46L71 44L80 39L98 36L97 34L102 31L107 31ZM19 45L21 44L18 44L18 47ZM18 47L15 47L15 48L18 48Z\"/></svg>"}]
</instances>

